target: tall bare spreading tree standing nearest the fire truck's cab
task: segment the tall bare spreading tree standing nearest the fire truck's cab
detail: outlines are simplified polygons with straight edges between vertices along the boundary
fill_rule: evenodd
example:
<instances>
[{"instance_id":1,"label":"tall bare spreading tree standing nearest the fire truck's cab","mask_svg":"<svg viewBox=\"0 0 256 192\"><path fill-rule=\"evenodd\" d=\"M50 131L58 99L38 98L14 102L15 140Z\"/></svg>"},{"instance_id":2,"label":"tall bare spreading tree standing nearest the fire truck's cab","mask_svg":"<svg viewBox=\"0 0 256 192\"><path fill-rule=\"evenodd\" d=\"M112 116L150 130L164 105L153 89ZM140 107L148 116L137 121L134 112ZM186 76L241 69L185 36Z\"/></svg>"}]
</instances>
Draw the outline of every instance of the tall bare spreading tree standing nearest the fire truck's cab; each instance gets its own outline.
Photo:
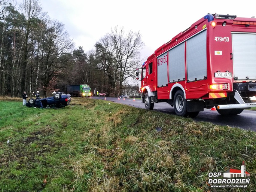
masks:
<instances>
[{"instance_id":1,"label":"tall bare spreading tree standing nearest the fire truck's cab","mask_svg":"<svg viewBox=\"0 0 256 192\"><path fill-rule=\"evenodd\" d=\"M123 27L115 26L100 42L104 45L106 52L111 55L114 89L118 79L121 93L123 82L134 75L136 66L141 62L139 50L144 46L141 34L133 31L126 33Z\"/></svg>"}]
</instances>

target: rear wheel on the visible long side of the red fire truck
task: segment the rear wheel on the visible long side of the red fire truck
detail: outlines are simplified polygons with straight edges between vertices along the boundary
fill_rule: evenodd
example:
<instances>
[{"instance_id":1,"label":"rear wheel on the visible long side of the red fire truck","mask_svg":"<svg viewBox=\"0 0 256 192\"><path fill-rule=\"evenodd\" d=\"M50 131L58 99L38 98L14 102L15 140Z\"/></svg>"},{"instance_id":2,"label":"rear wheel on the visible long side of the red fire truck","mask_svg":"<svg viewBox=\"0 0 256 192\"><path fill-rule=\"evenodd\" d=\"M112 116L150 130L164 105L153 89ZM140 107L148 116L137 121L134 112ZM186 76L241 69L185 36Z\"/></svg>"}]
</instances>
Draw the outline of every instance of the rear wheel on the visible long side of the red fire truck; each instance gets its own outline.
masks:
<instances>
[{"instance_id":1,"label":"rear wheel on the visible long side of the red fire truck","mask_svg":"<svg viewBox=\"0 0 256 192\"><path fill-rule=\"evenodd\" d=\"M174 95L174 111L176 115L187 117L187 100L184 98L184 93L178 90Z\"/></svg>"}]
</instances>

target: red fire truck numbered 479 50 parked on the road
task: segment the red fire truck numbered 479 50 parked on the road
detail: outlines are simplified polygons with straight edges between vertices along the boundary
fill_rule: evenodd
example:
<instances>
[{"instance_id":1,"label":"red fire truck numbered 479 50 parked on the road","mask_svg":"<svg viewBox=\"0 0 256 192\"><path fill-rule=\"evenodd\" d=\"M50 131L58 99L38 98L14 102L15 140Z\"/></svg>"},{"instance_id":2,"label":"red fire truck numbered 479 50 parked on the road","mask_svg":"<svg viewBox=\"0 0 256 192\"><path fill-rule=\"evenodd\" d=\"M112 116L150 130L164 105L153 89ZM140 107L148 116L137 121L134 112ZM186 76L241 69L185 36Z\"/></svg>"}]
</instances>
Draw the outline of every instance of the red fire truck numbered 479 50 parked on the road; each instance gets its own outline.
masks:
<instances>
[{"instance_id":1,"label":"red fire truck numbered 479 50 parked on the road","mask_svg":"<svg viewBox=\"0 0 256 192\"><path fill-rule=\"evenodd\" d=\"M256 106L256 19L207 14L149 56L141 75L148 110L167 102L180 116L214 106L240 114Z\"/></svg>"}]
</instances>

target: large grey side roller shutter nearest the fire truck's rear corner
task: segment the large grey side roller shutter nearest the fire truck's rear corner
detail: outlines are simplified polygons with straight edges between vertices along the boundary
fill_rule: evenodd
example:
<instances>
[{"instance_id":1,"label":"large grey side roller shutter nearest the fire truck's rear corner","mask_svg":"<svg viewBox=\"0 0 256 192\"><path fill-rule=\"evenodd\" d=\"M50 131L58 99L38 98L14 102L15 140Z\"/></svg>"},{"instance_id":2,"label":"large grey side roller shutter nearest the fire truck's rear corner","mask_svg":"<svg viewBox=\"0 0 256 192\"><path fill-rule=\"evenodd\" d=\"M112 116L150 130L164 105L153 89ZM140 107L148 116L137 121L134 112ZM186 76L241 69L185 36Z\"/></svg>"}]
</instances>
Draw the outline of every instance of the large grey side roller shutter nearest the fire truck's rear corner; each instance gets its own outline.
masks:
<instances>
[{"instance_id":1,"label":"large grey side roller shutter nearest the fire truck's rear corner","mask_svg":"<svg viewBox=\"0 0 256 192\"><path fill-rule=\"evenodd\" d=\"M204 79L206 71L206 30L187 40L187 79Z\"/></svg>"}]
</instances>

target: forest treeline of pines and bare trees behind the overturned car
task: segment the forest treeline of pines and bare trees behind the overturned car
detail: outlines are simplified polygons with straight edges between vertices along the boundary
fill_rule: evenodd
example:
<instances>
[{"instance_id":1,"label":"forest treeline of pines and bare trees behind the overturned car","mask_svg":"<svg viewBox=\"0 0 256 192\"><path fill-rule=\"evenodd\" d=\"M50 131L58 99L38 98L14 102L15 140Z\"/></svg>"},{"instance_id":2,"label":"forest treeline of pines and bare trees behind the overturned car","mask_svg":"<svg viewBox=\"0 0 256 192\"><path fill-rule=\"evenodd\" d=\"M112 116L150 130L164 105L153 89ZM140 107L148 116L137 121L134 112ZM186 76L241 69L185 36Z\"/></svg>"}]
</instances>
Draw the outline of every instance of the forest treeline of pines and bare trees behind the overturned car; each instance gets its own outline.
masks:
<instances>
[{"instance_id":1,"label":"forest treeline of pines and bare trees behind the overturned car","mask_svg":"<svg viewBox=\"0 0 256 192\"><path fill-rule=\"evenodd\" d=\"M39 90L46 97L75 84L108 96L139 95L139 85L127 80L141 63L140 32L115 26L85 52L81 46L75 49L65 26L50 19L39 0L12 3L0 0L0 95Z\"/></svg>"}]
</instances>

